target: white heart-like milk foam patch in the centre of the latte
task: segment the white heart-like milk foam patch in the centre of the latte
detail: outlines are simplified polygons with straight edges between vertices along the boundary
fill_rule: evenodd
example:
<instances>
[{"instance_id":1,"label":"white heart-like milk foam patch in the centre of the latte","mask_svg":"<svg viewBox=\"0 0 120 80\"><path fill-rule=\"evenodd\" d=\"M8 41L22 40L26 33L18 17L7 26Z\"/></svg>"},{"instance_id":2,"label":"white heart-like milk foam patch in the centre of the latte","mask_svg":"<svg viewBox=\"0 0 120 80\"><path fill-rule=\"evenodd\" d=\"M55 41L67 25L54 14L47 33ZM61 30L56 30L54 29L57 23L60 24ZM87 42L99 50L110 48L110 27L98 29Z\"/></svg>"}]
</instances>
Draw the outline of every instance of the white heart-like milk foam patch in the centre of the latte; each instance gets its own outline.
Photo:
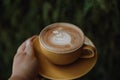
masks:
<instances>
[{"instance_id":1,"label":"white heart-like milk foam patch in the centre of the latte","mask_svg":"<svg viewBox=\"0 0 120 80\"><path fill-rule=\"evenodd\" d=\"M67 32L62 32L59 30L53 31L53 36L51 37L51 42L55 45L67 45L71 44L71 36Z\"/></svg>"}]
</instances>

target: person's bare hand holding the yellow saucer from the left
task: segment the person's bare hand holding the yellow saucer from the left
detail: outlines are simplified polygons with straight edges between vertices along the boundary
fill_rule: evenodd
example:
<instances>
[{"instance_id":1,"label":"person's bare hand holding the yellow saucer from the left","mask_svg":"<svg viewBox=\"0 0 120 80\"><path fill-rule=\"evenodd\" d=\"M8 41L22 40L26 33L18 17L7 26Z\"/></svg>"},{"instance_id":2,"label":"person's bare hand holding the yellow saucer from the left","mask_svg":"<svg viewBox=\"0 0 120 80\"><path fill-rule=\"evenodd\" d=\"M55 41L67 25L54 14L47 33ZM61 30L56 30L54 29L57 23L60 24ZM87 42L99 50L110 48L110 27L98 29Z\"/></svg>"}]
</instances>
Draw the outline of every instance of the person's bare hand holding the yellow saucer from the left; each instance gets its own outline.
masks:
<instances>
[{"instance_id":1,"label":"person's bare hand holding the yellow saucer from the left","mask_svg":"<svg viewBox=\"0 0 120 80\"><path fill-rule=\"evenodd\" d=\"M38 61L33 50L32 38L26 40L14 56L12 75L9 80L34 80L38 74Z\"/></svg>"}]
</instances>

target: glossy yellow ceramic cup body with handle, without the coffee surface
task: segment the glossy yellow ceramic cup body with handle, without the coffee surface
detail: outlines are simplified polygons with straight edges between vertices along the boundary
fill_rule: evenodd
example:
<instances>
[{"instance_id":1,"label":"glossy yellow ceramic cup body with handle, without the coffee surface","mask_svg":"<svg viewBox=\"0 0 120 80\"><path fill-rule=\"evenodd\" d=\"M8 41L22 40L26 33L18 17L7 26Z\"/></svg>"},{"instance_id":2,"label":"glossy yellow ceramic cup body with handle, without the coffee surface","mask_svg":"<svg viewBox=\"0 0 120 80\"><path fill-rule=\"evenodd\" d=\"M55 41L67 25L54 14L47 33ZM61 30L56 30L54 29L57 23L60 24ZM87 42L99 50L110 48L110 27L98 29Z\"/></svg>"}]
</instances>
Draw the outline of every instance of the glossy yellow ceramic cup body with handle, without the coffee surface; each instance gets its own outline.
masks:
<instances>
[{"instance_id":1,"label":"glossy yellow ceramic cup body with handle, without the coffee surface","mask_svg":"<svg viewBox=\"0 0 120 80\"><path fill-rule=\"evenodd\" d=\"M55 24L57 24L57 23L55 23ZM65 23L65 24L69 24L69 23ZM45 29L43 29L42 32L44 32L44 30ZM40 35L38 35L38 37L36 37L33 40L34 48L35 48L38 60L40 60L39 56L44 55L46 57L46 59L48 59L53 64L67 65L67 64L73 63L78 58L91 58L95 54L94 47L84 44L84 40L82 42L82 45L80 45L79 48L77 48L76 50L73 50L73 51L69 51L69 52L65 52L65 53L62 52L61 54L54 52L54 51L50 51L47 48L45 48L45 46L41 42L42 32L40 33ZM82 37L84 39L85 36L82 35Z\"/></svg>"}]
</instances>

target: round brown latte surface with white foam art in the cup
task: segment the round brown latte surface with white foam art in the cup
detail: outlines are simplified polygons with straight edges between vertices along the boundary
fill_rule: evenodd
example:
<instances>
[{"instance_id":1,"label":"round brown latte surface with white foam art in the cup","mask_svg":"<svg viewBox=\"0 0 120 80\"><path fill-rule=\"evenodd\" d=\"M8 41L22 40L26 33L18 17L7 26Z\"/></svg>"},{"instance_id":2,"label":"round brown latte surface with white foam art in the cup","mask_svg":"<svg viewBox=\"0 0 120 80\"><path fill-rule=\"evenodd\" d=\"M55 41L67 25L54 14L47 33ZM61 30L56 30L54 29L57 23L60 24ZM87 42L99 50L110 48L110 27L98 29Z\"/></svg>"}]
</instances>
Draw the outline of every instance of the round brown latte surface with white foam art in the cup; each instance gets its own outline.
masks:
<instances>
[{"instance_id":1,"label":"round brown latte surface with white foam art in the cup","mask_svg":"<svg viewBox=\"0 0 120 80\"><path fill-rule=\"evenodd\" d=\"M83 42L83 32L68 23L51 24L40 34L42 47L55 53L70 53L80 48Z\"/></svg>"}]
</instances>

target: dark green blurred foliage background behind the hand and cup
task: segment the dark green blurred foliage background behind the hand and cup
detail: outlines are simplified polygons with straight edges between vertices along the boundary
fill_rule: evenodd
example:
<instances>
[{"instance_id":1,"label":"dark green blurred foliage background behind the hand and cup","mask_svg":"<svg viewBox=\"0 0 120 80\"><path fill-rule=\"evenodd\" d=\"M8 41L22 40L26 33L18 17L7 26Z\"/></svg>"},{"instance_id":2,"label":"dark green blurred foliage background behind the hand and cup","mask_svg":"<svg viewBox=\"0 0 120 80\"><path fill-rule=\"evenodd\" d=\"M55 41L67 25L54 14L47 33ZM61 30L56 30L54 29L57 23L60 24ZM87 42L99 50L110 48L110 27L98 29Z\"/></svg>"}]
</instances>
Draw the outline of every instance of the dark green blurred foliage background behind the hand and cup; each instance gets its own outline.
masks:
<instances>
[{"instance_id":1,"label":"dark green blurred foliage background behind the hand and cup","mask_svg":"<svg viewBox=\"0 0 120 80\"><path fill-rule=\"evenodd\" d=\"M120 80L120 0L0 0L0 80L27 38L54 22L79 26L96 45L95 67L78 80Z\"/></svg>"}]
</instances>

